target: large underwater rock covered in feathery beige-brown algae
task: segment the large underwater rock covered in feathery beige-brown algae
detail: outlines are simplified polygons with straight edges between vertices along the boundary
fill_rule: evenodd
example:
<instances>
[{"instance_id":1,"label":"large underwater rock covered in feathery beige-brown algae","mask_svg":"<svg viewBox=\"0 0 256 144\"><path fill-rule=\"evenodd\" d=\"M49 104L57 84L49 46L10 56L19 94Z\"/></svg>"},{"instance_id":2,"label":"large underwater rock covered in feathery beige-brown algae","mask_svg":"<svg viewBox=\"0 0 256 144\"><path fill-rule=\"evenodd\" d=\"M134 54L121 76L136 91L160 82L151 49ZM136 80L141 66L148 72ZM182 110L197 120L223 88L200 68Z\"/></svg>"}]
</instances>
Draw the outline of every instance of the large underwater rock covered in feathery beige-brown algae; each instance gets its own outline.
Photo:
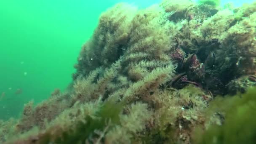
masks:
<instances>
[{"instance_id":1,"label":"large underwater rock covered in feathery beige-brown algae","mask_svg":"<svg viewBox=\"0 0 256 144\"><path fill-rule=\"evenodd\" d=\"M253 140L255 91L246 90L256 85L256 3L224 9L219 2L109 8L81 48L70 90L29 102L18 120L0 121L0 142Z\"/></svg>"}]
</instances>

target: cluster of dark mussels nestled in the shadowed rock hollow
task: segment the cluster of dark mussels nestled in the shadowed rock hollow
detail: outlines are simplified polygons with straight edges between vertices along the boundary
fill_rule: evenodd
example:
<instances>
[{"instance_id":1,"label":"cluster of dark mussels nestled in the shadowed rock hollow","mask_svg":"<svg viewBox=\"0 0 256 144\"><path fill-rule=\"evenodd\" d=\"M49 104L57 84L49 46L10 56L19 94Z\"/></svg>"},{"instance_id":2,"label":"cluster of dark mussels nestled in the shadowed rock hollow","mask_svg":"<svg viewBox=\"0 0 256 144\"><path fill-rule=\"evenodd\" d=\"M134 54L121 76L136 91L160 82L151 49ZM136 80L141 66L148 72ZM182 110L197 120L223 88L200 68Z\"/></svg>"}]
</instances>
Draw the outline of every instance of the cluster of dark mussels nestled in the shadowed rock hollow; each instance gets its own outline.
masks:
<instances>
[{"instance_id":1,"label":"cluster of dark mussels nestled in the shadowed rock hollow","mask_svg":"<svg viewBox=\"0 0 256 144\"><path fill-rule=\"evenodd\" d=\"M218 39L200 44L196 42L198 48L194 53L188 53L177 40L176 43L176 48L170 54L178 65L171 87L180 89L192 84L216 96L235 94L237 91L243 93L248 86L256 85L253 73L246 75L238 70L238 56L232 56L232 53L216 56L216 53L224 51Z\"/></svg>"}]
</instances>

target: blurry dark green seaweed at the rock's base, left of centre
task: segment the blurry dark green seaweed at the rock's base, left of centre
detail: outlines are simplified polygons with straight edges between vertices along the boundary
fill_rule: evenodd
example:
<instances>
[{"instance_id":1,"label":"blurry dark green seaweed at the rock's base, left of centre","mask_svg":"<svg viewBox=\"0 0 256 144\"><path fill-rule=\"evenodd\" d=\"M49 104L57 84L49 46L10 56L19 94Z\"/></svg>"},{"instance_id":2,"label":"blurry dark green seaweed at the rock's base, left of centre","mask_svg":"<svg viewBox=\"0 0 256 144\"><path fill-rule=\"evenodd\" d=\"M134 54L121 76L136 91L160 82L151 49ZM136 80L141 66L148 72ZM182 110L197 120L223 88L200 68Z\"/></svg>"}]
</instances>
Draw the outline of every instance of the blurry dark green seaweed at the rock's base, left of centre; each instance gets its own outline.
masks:
<instances>
[{"instance_id":1,"label":"blurry dark green seaweed at the rock's base, left of centre","mask_svg":"<svg viewBox=\"0 0 256 144\"><path fill-rule=\"evenodd\" d=\"M15 138L7 144L79 144L85 141L104 141L102 136L99 136L96 131L110 131L114 125L120 124L119 115L122 109L122 103L115 104L107 101L100 106L99 110L93 116L81 115L82 117L74 119L72 123L69 123L69 120L55 121L45 131L38 134L31 134L29 137L23 139L17 140ZM72 115L68 112L66 114Z\"/></svg>"}]
</instances>

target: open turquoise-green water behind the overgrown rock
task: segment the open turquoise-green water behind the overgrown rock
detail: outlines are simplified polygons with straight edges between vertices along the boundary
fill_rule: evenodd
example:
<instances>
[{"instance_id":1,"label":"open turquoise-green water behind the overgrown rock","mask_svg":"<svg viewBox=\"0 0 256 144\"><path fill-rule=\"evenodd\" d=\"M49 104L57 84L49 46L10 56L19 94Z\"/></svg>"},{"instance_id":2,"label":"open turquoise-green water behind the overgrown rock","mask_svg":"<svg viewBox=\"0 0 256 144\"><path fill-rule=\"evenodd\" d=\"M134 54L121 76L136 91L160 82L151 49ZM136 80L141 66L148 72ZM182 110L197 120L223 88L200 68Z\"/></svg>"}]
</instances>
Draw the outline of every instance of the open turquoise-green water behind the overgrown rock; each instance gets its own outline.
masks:
<instances>
[{"instance_id":1,"label":"open turquoise-green water behind the overgrown rock","mask_svg":"<svg viewBox=\"0 0 256 144\"><path fill-rule=\"evenodd\" d=\"M0 94L5 94L0 99L0 119L18 116L24 103L47 99L55 88L65 90L80 47L93 33L102 11L118 2L144 8L160 1L2 0ZM239 6L241 0L233 3ZM17 89L22 93L15 94Z\"/></svg>"}]
</instances>

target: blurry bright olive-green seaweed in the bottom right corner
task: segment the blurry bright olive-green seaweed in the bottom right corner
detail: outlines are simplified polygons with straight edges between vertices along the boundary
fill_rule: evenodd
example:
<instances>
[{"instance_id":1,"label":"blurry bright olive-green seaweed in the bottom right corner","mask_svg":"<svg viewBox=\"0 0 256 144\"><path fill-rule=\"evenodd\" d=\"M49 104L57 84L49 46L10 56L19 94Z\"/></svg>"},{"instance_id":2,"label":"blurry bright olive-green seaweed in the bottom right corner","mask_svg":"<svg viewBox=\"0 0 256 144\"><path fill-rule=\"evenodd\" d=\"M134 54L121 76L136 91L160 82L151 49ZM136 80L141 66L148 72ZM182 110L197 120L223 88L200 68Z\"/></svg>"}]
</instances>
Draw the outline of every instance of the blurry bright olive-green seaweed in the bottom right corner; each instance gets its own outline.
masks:
<instances>
[{"instance_id":1,"label":"blurry bright olive-green seaweed in the bottom right corner","mask_svg":"<svg viewBox=\"0 0 256 144\"><path fill-rule=\"evenodd\" d=\"M222 125L198 132L196 144L254 144L256 141L256 88L244 94L216 98L210 111L224 113ZM212 112L210 112L212 113ZM203 134L204 133L204 134Z\"/></svg>"}]
</instances>

